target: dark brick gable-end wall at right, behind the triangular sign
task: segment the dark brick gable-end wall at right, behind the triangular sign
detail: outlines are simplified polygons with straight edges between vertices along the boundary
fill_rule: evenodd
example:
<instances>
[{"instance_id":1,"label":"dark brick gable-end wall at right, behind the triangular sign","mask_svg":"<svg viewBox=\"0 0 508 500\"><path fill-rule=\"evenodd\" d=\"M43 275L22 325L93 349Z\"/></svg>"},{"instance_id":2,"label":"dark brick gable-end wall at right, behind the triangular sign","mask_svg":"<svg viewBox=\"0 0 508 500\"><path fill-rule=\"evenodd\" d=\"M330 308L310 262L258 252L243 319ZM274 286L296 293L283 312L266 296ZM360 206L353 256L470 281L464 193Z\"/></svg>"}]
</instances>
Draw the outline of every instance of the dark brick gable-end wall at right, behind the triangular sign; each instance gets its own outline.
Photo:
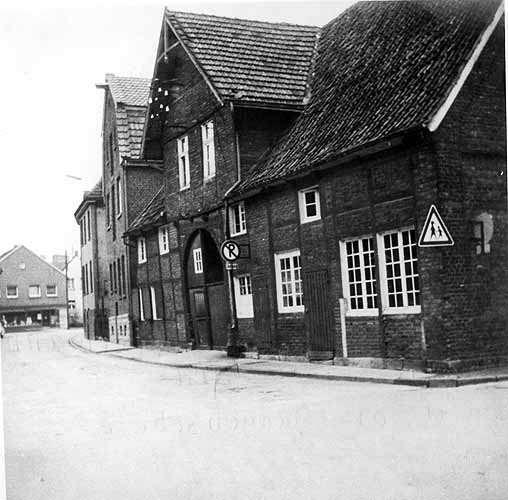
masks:
<instances>
[{"instance_id":1,"label":"dark brick gable-end wall at right, behind the triangular sign","mask_svg":"<svg viewBox=\"0 0 508 500\"><path fill-rule=\"evenodd\" d=\"M496 364L508 357L504 82L500 23L435 134L438 207L455 245L425 251L441 259L440 321L427 329L445 343L445 367ZM490 252L477 254L471 224L482 214L492 220L493 233Z\"/></svg>"}]
</instances>

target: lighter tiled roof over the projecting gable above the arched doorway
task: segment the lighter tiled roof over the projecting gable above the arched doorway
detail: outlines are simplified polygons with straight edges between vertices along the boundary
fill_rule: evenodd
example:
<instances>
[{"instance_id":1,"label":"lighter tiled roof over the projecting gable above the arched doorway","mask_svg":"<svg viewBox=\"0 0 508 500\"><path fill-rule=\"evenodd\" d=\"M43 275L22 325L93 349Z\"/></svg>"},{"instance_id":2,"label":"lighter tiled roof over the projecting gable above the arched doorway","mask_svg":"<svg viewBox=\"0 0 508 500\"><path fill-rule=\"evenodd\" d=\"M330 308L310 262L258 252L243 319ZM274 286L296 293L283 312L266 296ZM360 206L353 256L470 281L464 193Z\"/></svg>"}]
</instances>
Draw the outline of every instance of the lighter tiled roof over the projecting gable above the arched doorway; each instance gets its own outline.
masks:
<instances>
[{"instance_id":1,"label":"lighter tiled roof over the projecting gable above the arched doorway","mask_svg":"<svg viewBox=\"0 0 508 500\"><path fill-rule=\"evenodd\" d=\"M166 10L223 98L301 105L319 28Z\"/></svg>"}]
</instances>

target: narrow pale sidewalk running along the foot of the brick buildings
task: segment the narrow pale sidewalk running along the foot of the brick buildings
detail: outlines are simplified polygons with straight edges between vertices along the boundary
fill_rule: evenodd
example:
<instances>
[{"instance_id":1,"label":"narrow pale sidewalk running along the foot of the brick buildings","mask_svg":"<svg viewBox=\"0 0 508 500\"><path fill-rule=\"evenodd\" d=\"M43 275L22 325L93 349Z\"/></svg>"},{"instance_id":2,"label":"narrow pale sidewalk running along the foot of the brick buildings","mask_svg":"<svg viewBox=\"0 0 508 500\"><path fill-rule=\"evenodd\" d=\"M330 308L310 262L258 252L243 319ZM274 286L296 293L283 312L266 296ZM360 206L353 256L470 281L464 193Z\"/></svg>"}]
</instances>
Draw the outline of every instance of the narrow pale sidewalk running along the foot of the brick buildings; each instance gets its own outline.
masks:
<instances>
[{"instance_id":1,"label":"narrow pale sidewalk running along the foot of the brick buildings","mask_svg":"<svg viewBox=\"0 0 508 500\"><path fill-rule=\"evenodd\" d=\"M200 370L234 371L279 375L284 377L306 377L348 382L371 382L380 384L408 385L417 387L459 387L508 380L508 367L468 372L454 375L436 375L413 370L380 370L320 363L267 361L261 359L228 358L224 351L168 352L155 349L138 349L102 340L88 340L81 335L73 336L69 344L95 354L107 354L132 361L175 368Z\"/></svg>"}]
</instances>

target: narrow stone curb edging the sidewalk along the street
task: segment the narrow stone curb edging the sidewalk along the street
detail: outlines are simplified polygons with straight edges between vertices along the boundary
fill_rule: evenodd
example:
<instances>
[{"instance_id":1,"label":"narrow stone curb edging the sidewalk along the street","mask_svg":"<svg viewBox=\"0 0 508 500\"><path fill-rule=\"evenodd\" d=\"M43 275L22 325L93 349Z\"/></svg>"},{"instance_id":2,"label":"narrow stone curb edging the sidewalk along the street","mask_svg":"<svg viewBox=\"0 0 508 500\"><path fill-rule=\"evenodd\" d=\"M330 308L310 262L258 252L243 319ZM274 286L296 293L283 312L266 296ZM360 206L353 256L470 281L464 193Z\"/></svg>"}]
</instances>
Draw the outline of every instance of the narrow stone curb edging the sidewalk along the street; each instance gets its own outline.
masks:
<instances>
[{"instance_id":1,"label":"narrow stone curb edging the sidewalk along the street","mask_svg":"<svg viewBox=\"0 0 508 500\"><path fill-rule=\"evenodd\" d=\"M230 366L203 366L202 364L196 363L163 363L158 361L148 361L145 359L136 358L133 356L117 356L116 353L119 351L129 351L132 348L118 349L114 351L91 351L86 347L83 347L72 339L69 339L69 345L89 354L106 354L107 356L115 356L116 358L128 359L129 361L136 361L137 363L147 363L156 366L167 366L169 368L182 368L182 369L193 369L193 370L207 370L215 372L236 372L246 373L249 375L271 375L279 377L299 377L316 380L332 380L337 382L370 382L372 384L387 384L387 385L399 385L406 387L421 387L427 389L441 389L441 388L452 388L462 387L466 385L477 385L487 384L491 382L503 382L508 381L508 375L491 375L483 377L472 377L472 378L446 378L446 379L404 379L404 378L378 378L378 377L360 377L355 375L324 375L319 373L299 373L284 370L268 370L268 369L254 369L242 367L238 364L232 364Z\"/></svg>"}]
</instances>

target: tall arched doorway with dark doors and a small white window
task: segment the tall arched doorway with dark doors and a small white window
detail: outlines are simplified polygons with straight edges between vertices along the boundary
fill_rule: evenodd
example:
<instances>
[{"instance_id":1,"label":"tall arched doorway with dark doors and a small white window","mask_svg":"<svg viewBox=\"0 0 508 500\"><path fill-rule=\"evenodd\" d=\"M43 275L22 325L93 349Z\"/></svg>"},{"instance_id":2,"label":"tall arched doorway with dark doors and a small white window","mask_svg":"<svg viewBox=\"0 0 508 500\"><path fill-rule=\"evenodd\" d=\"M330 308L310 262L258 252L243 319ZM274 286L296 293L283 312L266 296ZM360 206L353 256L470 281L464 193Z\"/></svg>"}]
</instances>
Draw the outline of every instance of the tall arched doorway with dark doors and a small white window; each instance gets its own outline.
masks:
<instances>
[{"instance_id":1,"label":"tall arched doorway with dark doors and a small white window","mask_svg":"<svg viewBox=\"0 0 508 500\"><path fill-rule=\"evenodd\" d=\"M196 231L187 245L187 296L197 348L225 348L229 324L227 288L219 250L210 233Z\"/></svg>"}]
</instances>

